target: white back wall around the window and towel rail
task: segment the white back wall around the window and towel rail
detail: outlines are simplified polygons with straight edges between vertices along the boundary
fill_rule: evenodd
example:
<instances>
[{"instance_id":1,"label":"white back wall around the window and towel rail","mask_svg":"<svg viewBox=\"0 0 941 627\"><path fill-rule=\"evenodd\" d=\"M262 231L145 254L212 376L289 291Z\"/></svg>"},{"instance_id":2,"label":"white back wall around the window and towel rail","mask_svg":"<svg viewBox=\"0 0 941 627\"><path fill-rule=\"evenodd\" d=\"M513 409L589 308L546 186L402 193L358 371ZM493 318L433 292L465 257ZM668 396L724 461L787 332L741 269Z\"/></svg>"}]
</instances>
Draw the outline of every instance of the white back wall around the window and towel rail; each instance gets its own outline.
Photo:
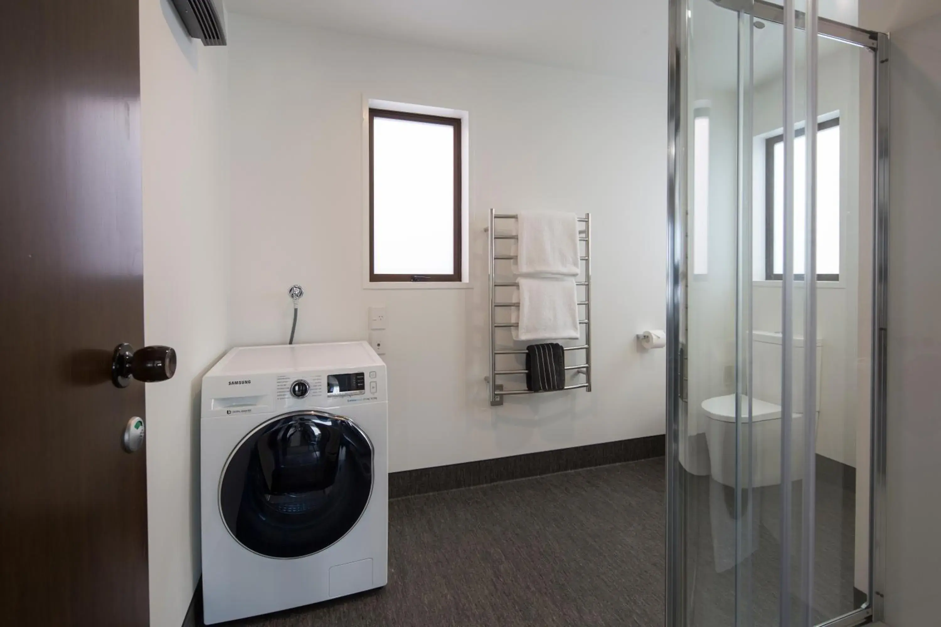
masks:
<instances>
[{"instance_id":1,"label":"white back wall around the window and towel rail","mask_svg":"<svg viewBox=\"0 0 941 627\"><path fill-rule=\"evenodd\" d=\"M367 337L387 306L390 469L662 433L666 85L230 15L233 345ZM658 25L665 32L664 23ZM665 68L664 49L638 59ZM362 285L362 102L470 112L470 285ZM489 208L592 212L594 391L488 403Z\"/></svg>"}]
</instances>

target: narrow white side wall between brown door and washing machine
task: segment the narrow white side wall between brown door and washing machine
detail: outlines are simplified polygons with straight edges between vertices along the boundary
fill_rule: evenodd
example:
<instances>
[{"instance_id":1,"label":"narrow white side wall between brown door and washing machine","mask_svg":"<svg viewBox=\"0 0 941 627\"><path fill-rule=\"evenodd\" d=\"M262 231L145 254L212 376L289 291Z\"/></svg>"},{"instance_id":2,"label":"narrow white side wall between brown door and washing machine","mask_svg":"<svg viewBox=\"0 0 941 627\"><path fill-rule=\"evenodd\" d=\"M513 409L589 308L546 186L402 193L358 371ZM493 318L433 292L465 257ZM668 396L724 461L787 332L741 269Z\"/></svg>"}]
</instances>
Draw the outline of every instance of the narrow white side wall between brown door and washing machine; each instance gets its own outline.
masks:
<instances>
[{"instance_id":1,"label":"narrow white side wall between brown door and washing machine","mask_svg":"<svg viewBox=\"0 0 941 627\"><path fill-rule=\"evenodd\" d=\"M199 580L199 385L228 346L226 55L189 39L169 0L141 0L144 336L179 360L147 386L154 627L182 624Z\"/></svg>"}]
</instances>

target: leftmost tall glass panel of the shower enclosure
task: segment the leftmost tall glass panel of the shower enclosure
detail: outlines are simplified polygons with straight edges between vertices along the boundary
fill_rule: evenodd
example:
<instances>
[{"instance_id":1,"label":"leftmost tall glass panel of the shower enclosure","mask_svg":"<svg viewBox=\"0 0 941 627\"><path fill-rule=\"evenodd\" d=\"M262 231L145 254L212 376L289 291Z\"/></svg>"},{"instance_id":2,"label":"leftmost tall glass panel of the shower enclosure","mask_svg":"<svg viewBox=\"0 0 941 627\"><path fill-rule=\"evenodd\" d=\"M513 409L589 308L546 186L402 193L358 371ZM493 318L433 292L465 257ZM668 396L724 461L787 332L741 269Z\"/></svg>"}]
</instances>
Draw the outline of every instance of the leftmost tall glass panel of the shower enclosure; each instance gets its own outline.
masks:
<instances>
[{"instance_id":1,"label":"leftmost tall glass panel of the shower enclosure","mask_svg":"<svg viewBox=\"0 0 941 627\"><path fill-rule=\"evenodd\" d=\"M670 594L669 624L732 625L739 556L749 544L734 409L742 16L708 0L680 5L686 54L674 61L683 98L672 121L686 141L675 147L677 298L668 332L678 338L669 398L677 417L670 482L678 515L671 528L680 541L668 542L668 551L677 551L670 561L683 575Z\"/></svg>"}]
</instances>

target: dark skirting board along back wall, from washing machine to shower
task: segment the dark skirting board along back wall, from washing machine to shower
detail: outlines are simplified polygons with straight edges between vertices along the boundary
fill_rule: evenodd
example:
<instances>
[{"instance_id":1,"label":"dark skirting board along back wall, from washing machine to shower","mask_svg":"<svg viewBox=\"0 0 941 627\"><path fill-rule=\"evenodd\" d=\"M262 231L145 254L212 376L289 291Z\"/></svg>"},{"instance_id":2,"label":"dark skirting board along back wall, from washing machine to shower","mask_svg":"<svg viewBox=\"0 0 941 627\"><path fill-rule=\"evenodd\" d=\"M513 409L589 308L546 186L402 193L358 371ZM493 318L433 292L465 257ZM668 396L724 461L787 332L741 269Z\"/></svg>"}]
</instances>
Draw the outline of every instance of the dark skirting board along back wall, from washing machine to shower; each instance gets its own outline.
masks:
<instances>
[{"instance_id":1,"label":"dark skirting board along back wall, from washing machine to shower","mask_svg":"<svg viewBox=\"0 0 941 627\"><path fill-rule=\"evenodd\" d=\"M584 447L560 448L499 457L493 460L453 463L446 466L390 473L389 497L399 498L470 488L497 481L662 457L665 443L665 436L651 435Z\"/></svg>"}]
</instances>

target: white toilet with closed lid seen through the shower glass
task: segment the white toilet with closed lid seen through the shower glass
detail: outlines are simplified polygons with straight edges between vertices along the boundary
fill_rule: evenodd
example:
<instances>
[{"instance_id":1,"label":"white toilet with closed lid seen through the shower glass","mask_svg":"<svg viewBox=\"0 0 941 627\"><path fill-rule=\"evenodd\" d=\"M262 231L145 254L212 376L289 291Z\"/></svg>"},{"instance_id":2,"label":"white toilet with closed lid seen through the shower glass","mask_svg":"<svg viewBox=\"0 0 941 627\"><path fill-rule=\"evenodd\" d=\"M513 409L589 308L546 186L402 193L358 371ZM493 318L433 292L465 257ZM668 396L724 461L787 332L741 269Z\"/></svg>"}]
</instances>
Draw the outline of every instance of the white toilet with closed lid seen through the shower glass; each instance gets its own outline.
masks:
<instances>
[{"instance_id":1,"label":"white toilet with closed lid seen through the shower glass","mask_svg":"<svg viewBox=\"0 0 941 627\"><path fill-rule=\"evenodd\" d=\"M747 446L751 430L753 487L781 482L781 334L768 331L752 333L752 415L751 426L742 427L742 447ZM793 412L791 421L791 478L804 477L804 338L794 337ZM817 415L821 402L821 347L817 339ZM706 444L710 453L712 478L735 487L736 437L734 394L713 397L702 402L706 416ZM740 397L742 422L748 419L748 398ZM802 411L797 411L802 410ZM743 472L748 472L746 469Z\"/></svg>"}]
</instances>

